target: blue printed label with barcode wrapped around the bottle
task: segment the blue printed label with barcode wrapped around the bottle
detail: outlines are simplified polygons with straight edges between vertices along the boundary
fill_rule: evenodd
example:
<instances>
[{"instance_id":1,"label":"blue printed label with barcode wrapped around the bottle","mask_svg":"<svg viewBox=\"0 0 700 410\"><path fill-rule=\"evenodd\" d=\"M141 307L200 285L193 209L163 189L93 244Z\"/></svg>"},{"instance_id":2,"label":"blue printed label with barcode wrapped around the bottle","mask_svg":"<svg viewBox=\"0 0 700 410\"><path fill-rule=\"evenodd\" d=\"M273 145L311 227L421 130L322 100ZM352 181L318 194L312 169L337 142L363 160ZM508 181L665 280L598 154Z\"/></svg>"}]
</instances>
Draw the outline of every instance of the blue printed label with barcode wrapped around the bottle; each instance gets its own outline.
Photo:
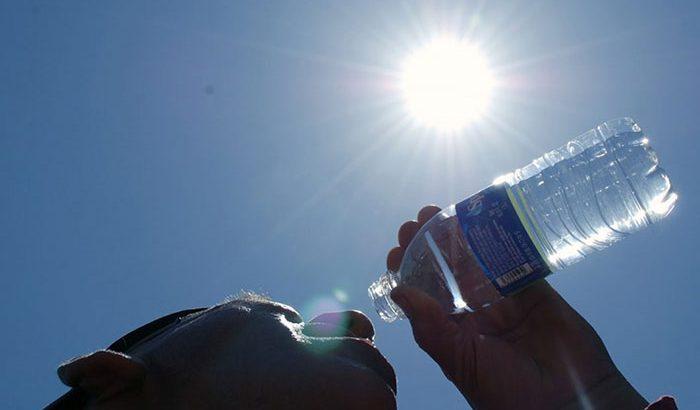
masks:
<instances>
[{"instance_id":1,"label":"blue printed label with barcode wrapped around the bottle","mask_svg":"<svg viewBox=\"0 0 700 410\"><path fill-rule=\"evenodd\" d=\"M511 195L507 184L491 185L456 205L469 246L503 296L551 273Z\"/></svg>"}]
</instances>

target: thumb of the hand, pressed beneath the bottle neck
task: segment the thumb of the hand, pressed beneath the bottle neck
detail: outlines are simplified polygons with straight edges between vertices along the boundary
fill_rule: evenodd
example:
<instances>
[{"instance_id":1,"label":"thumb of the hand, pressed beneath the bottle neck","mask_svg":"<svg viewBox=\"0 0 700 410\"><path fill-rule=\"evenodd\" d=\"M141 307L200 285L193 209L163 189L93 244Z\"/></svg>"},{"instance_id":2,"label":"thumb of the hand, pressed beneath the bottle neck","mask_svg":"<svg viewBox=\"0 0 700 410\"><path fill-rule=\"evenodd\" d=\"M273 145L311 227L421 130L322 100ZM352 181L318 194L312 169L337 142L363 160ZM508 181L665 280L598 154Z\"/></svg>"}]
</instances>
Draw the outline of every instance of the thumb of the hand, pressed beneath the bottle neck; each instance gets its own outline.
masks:
<instances>
[{"instance_id":1,"label":"thumb of the hand, pressed beneath the bottle neck","mask_svg":"<svg viewBox=\"0 0 700 410\"><path fill-rule=\"evenodd\" d=\"M455 354L464 342L457 323L435 299L419 289L400 285L391 292L391 298L411 322L418 346L450 376Z\"/></svg>"}]
</instances>

